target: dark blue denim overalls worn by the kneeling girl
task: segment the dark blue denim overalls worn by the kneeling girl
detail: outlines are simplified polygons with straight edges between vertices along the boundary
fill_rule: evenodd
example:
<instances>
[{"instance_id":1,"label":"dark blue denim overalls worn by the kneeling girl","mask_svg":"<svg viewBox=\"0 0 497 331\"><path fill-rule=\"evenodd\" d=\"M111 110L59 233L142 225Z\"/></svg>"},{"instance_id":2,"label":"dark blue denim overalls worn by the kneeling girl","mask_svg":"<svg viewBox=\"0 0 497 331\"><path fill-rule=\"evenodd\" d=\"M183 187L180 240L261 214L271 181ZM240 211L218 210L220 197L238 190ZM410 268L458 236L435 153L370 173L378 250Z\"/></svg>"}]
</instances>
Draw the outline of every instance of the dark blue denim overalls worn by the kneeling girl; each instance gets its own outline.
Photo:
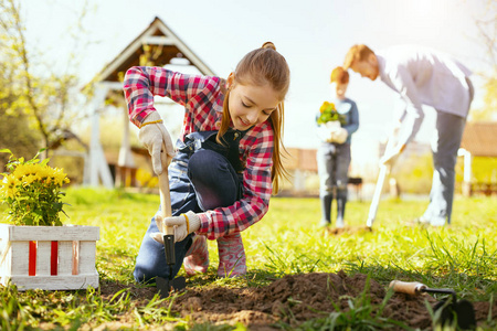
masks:
<instances>
[{"instance_id":1,"label":"dark blue denim overalls worn by the kneeling girl","mask_svg":"<svg viewBox=\"0 0 497 331\"><path fill-rule=\"evenodd\" d=\"M215 141L218 131L192 132L177 141L178 152L169 166L172 216L232 205L243 196L243 170L239 143L244 131L229 130L224 146ZM160 211L160 207L159 207ZM192 244L194 234L175 244L176 264L170 270L163 245L150 234L159 232L155 216L141 242L134 270L135 280L148 282L155 277L175 277Z\"/></svg>"}]
</instances>

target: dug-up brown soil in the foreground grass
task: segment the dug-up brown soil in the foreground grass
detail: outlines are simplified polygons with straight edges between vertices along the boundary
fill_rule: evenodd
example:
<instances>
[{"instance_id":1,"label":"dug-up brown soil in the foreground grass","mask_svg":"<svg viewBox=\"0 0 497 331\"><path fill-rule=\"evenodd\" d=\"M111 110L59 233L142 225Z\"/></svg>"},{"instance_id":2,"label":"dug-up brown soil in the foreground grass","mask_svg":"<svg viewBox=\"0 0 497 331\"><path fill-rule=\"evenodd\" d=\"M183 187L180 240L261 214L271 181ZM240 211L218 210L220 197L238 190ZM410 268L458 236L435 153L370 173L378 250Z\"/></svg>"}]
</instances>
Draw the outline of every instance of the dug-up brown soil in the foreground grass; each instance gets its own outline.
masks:
<instances>
[{"instance_id":1,"label":"dug-up brown soil in the foreground grass","mask_svg":"<svg viewBox=\"0 0 497 331\"><path fill-rule=\"evenodd\" d=\"M250 330L281 330L276 325L277 322L285 322L294 328L311 319L328 317L337 309L349 311L349 299L357 302L356 298L363 293L367 293L363 298L366 305L370 302L372 307L379 307L387 293L384 286L370 279L369 290L364 291L367 284L367 275L347 276L343 271L339 271L285 276L260 288L228 288L215 285L201 288L187 287L187 290L173 301L172 310L195 323L240 322ZM121 288L129 287L110 282L101 284L102 295L108 298ZM137 299L147 301L154 297L156 288L131 287L130 291ZM432 307L437 302L429 295L414 297L394 293L381 316L401 321L411 328L431 329L432 319L425 300ZM477 322L486 321L489 302L473 302L473 305ZM377 309L373 309L372 314L376 313ZM497 300L491 307L491 318L497 319ZM121 322L126 323L126 319L123 317Z\"/></svg>"}]
</instances>

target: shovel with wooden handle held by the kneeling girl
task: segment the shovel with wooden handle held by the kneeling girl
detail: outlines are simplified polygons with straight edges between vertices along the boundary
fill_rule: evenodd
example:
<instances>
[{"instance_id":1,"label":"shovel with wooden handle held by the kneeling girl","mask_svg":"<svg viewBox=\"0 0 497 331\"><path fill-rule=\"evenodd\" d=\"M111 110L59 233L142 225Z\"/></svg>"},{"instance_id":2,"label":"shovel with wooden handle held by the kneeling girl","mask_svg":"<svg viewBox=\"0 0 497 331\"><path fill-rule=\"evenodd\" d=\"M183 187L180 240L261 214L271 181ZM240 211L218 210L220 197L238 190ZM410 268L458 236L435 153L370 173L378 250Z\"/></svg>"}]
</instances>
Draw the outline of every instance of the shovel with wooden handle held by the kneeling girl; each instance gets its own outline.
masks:
<instances>
[{"instance_id":1,"label":"shovel with wooden handle held by the kneeling girl","mask_svg":"<svg viewBox=\"0 0 497 331\"><path fill-rule=\"evenodd\" d=\"M163 149L166 150L166 149ZM171 216L171 196L169 193L169 178L168 169L159 174L159 192L160 192L160 212L162 217ZM166 227L166 234L163 235L163 248L166 253L166 260L169 266L169 278L157 277L156 285L157 290L161 298L169 297L171 291L179 291L187 287L187 279L184 277L172 276L172 267L176 264L175 253L175 228L172 226Z\"/></svg>"}]
</instances>

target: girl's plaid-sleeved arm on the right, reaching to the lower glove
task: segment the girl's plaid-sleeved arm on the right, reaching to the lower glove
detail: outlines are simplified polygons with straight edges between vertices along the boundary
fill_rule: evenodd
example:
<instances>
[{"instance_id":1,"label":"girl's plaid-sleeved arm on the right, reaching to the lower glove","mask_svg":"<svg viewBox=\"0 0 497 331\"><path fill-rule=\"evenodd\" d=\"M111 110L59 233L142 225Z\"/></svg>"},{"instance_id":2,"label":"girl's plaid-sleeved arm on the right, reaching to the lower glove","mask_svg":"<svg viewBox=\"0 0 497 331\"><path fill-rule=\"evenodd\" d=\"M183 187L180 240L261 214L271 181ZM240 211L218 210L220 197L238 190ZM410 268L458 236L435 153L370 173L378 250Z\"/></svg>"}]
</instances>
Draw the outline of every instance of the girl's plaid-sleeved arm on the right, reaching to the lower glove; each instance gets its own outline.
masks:
<instances>
[{"instance_id":1,"label":"girl's plaid-sleeved arm on the right, reaching to the lower glove","mask_svg":"<svg viewBox=\"0 0 497 331\"><path fill-rule=\"evenodd\" d=\"M254 128L256 129L256 128ZM247 135L252 132L247 132ZM199 234L215 239L226 234L244 231L260 221L267 212L273 192L271 180L273 156L273 129L266 122L256 136L247 137L252 145L243 174L243 197L228 207L199 213Z\"/></svg>"}]
</instances>

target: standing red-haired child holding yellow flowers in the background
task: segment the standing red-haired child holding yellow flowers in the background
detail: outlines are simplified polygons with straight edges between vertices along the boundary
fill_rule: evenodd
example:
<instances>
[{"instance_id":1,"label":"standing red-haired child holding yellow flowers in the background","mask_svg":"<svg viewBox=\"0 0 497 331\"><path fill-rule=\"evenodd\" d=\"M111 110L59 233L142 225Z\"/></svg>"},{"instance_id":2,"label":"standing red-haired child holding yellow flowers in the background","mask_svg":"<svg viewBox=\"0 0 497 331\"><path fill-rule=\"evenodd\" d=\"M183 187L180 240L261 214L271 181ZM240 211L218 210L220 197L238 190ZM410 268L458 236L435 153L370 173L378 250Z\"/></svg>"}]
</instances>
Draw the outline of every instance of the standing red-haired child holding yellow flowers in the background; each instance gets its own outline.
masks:
<instances>
[{"instance_id":1,"label":"standing red-haired child holding yellow flowers in the background","mask_svg":"<svg viewBox=\"0 0 497 331\"><path fill-rule=\"evenodd\" d=\"M321 145L317 151L319 174L319 197L321 200L321 226L331 224L331 203L337 199L337 227L343 227L345 207L348 197L347 183L350 166L350 141L359 128L359 113L356 103L345 96L349 74L338 66L331 72L331 87L336 95L334 105L341 125L319 125ZM326 103L325 103L326 104ZM329 105L329 103L328 103ZM320 114L318 115L319 118ZM338 124L337 124L338 125Z\"/></svg>"}]
</instances>

